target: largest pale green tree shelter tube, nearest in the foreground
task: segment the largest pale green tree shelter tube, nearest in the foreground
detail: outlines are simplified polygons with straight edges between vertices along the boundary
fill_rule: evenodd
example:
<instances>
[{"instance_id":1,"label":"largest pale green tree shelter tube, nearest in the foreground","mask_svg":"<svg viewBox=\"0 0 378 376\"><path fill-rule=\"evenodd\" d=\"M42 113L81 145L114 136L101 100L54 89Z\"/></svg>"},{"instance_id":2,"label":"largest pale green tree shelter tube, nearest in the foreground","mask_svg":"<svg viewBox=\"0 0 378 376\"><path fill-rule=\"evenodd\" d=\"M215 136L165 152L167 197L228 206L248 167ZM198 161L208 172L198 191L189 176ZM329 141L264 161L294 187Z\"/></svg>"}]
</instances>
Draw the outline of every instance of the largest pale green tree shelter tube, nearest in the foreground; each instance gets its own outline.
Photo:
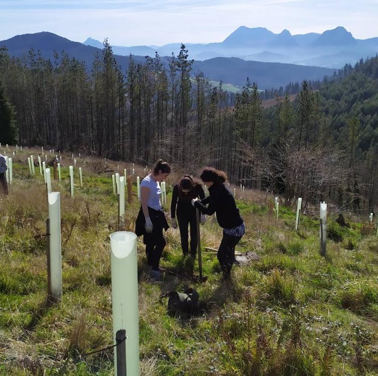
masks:
<instances>
[{"instance_id":1,"label":"largest pale green tree shelter tube, nearest in the foreground","mask_svg":"<svg viewBox=\"0 0 378 376\"><path fill-rule=\"evenodd\" d=\"M111 294L113 307L113 341L118 330L126 331L127 374L138 376L139 319L137 236L119 231L110 235ZM114 347L114 368L117 375L117 352Z\"/></svg>"}]
</instances>

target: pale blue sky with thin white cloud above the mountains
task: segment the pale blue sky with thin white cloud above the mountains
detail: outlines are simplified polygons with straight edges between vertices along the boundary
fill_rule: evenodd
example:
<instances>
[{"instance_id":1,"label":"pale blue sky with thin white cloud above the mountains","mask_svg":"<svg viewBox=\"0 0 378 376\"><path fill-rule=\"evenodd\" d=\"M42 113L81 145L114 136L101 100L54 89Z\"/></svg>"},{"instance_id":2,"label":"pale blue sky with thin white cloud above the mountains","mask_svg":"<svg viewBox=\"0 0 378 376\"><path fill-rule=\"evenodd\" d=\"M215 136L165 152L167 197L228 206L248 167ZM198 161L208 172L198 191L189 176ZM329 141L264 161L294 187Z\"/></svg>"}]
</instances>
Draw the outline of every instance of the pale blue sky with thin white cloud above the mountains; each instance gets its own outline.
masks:
<instances>
[{"instance_id":1,"label":"pale blue sky with thin white cloud above the mountains","mask_svg":"<svg viewBox=\"0 0 378 376\"><path fill-rule=\"evenodd\" d=\"M50 31L113 45L219 42L239 26L378 36L377 0L0 0L0 40Z\"/></svg>"}]
</instances>

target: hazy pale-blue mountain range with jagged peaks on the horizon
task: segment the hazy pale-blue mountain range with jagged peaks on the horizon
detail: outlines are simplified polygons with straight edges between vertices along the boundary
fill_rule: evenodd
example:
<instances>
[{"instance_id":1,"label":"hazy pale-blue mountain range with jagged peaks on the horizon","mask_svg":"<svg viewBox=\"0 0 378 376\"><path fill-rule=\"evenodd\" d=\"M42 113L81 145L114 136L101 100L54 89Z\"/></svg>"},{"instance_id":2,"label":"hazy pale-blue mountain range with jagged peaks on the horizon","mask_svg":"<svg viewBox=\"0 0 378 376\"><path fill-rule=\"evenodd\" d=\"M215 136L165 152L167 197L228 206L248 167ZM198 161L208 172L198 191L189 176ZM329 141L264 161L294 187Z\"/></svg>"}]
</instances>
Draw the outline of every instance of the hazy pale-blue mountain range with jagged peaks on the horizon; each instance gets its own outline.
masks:
<instances>
[{"instance_id":1,"label":"hazy pale-blue mountain range with jagged peaks on the horizon","mask_svg":"<svg viewBox=\"0 0 378 376\"><path fill-rule=\"evenodd\" d=\"M101 48L102 43L88 38L83 44ZM354 63L361 57L373 57L378 52L378 37L355 39L344 27L326 30L322 34L291 35L288 30L275 34L266 28L240 26L223 42L185 44L190 57L205 60L212 57L239 57L244 60L317 65L339 68ZM113 46L118 55L170 55L179 49L179 43L164 46Z\"/></svg>"}]
</instances>

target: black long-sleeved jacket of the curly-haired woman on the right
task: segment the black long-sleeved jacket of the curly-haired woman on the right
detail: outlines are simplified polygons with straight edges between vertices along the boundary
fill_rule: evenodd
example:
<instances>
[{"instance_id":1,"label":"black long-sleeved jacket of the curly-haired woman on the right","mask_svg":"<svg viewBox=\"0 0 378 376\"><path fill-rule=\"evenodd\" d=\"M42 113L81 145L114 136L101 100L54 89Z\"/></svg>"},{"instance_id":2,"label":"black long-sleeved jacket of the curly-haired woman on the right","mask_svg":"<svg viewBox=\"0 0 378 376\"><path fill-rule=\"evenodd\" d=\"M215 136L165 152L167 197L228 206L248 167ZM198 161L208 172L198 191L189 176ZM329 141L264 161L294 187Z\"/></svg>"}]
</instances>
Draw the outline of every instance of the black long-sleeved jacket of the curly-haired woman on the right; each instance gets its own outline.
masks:
<instances>
[{"instance_id":1,"label":"black long-sleeved jacket of the curly-haired woman on the right","mask_svg":"<svg viewBox=\"0 0 378 376\"><path fill-rule=\"evenodd\" d=\"M225 184L213 184L209 188L210 196L204 200L196 201L195 206L198 207L203 214L217 214L217 220L221 228L233 229L243 222L243 218L239 214L236 207L235 199ZM209 206L205 206L209 204Z\"/></svg>"}]
</instances>

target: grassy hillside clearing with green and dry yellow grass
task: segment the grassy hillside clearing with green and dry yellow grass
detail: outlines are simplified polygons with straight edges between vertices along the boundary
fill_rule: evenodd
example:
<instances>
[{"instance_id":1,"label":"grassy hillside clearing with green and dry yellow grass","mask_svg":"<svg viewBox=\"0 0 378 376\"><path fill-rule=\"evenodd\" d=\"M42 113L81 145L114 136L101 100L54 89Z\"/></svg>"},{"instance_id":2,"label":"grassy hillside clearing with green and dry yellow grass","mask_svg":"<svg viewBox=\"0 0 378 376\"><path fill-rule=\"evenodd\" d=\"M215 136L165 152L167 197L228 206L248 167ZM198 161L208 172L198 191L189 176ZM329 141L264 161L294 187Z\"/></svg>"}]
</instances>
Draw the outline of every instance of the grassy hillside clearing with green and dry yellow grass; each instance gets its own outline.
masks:
<instances>
[{"instance_id":1,"label":"grassy hillside clearing with green and dry yellow grass","mask_svg":"<svg viewBox=\"0 0 378 376\"><path fill-rule=\"evenodd\" d=\"M0 201L0 375L112 374L112 349L84 355L112 343L109 234L117 230L117 210L111 172L94 173L87 163L84 187L71 198L70 160L62 161L63 181L53 187L62 192L64 293L61 303L48 306L43 178L29 177L26 154L19 157L11 194ZM110 170L126 166L107 163ZM142 175L143 168L136 171ZM280 206L277 221L272 196L236 192L247 228L236 251L254 251L260 260L234 267L232 283L221 280L209 252L203 252L207 282L192 282L198 263L183 259L172 229L161 261L164 279L151 283L138 241L141 373L378 374L378 240L371 226L350 217L351 228L341 229L331 214L323 258L316 218L302 215L296 233L294 209ZM125 230L134 230L138 209L135 198ZM211 219L201 232L203 247L219 246L221 230ZM200 293L199 314L169 316L161 294L186 287Z\"/></svg>"}]
</instances>

